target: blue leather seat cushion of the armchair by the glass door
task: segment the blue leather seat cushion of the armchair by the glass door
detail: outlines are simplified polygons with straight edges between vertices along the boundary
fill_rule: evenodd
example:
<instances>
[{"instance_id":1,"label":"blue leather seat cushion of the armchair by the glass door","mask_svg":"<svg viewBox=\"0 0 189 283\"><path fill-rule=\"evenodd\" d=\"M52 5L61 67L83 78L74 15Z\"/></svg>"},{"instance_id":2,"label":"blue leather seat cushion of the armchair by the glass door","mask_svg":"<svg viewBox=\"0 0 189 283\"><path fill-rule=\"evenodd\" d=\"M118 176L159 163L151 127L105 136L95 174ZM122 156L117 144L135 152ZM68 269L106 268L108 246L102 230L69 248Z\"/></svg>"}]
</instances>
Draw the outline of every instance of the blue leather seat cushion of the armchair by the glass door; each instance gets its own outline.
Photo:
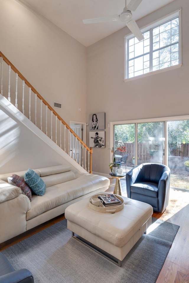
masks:
<instances>
[{"instance_id":1,"label":"blue leather seat cushion of the armchair by the glass door","mask_svg":"<svg viewBox=\"0 0 189 283\"><path fill-rule=\"evenodd\" d=\"M141 195L148 195L152 198L158 197L158 185L152 182L134 183L131 185L131 192Z\"/></svg>"}]
</instances>

